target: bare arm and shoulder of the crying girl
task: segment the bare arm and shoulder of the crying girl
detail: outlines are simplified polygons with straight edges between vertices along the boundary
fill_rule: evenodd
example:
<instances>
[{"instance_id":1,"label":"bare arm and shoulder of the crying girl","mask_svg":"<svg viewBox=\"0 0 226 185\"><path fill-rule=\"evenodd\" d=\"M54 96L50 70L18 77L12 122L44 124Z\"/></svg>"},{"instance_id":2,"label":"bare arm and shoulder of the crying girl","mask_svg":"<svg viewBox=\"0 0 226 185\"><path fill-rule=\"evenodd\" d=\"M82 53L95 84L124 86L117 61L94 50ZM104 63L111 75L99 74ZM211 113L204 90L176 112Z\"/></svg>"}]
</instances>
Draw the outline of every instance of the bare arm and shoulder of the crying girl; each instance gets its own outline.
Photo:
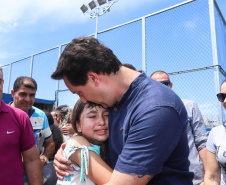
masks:
<instances>
[{"instance_id":1,"label":"bare arm and shoulder of the crying girl","mask_svg":"<svg viewBox=\"0 0 226 185\"><path fill-rule=\"evenodd\" d=\"M82 136L71 138L76 146L91 147L90 143ZM71 155L70 160L81 166L81 150ZM89 151L89 178L96 184L105 184L110 181L113 170L93 151Z\"/></svg>"}]
</instances>

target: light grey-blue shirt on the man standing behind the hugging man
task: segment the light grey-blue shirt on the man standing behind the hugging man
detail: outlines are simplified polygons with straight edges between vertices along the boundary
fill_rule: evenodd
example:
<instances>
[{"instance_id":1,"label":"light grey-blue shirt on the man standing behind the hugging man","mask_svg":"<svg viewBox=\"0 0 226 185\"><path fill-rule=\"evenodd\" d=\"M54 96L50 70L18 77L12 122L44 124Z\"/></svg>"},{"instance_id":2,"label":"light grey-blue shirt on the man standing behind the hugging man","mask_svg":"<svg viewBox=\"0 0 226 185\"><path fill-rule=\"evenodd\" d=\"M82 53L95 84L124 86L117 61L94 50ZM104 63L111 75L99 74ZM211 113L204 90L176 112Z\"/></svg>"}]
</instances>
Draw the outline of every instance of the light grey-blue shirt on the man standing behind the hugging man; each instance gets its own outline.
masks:
<instances>
[{"instance_id":1,"label":"light grey-blue shirt on the man standing behind the hugging man","mask_svg":"<svg viewBox=\"0 0 226 185\"><path fill-rule=\"evenodd\" d=\"M193 184L199 185L204 179L204 169L198 151L206 147L206 127L197 104L190 100L182 99L182 101L188 114L189 171L194 172Z\"/></svg>"}]
</instances>

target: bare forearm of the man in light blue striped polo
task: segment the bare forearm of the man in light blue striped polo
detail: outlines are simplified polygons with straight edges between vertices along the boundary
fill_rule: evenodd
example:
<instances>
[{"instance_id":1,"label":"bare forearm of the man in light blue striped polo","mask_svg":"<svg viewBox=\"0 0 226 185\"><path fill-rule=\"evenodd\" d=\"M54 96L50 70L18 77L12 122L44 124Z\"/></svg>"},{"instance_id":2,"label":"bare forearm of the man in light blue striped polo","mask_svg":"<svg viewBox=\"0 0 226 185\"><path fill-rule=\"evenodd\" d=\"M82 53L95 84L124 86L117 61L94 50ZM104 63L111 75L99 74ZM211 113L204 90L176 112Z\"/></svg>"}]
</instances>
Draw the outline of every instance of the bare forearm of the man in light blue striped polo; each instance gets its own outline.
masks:
<instances>
[{"instance_id":1,"label":"bare forearm of the man in light blue striped polo","mask_svg":"<svg viewBox=\"0 0 226 185\"><path fill-rule=\"evenodd\" d=\"M55 144L53 141L53 137L51 137L48 140L44 141L44 154L43 155L46 156L48 159L50 159L53 156L54 151L55 151ZM40 160L44 166L45 159L42 155L40 156Z\"/></svg>"}]
</instances>

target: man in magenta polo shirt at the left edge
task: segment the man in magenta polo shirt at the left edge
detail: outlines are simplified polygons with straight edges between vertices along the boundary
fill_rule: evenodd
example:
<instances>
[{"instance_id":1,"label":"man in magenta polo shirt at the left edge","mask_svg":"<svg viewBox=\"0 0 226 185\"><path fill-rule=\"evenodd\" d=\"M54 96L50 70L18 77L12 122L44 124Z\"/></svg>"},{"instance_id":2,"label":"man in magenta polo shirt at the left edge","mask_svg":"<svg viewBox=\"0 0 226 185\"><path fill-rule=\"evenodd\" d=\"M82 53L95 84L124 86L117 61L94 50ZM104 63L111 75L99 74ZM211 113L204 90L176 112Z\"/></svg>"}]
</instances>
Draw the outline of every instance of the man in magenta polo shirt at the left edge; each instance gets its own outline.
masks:
<instances>
[{"instance_id":1,"label":"man in magenta polo shirt at the left edge","mask_svg":"<svg viewBox=\"0 0 226 185\"><path fill-rule=\"evenodd\" d=\"M23 164L29 185L41 185L42 167L28 115L6 105L3 94L3 72L0 68L0 181L23 185ZM23 158L23 159L22 159ZM23 161L22 161L23 160Z\"/></svg>"}]
</instances>

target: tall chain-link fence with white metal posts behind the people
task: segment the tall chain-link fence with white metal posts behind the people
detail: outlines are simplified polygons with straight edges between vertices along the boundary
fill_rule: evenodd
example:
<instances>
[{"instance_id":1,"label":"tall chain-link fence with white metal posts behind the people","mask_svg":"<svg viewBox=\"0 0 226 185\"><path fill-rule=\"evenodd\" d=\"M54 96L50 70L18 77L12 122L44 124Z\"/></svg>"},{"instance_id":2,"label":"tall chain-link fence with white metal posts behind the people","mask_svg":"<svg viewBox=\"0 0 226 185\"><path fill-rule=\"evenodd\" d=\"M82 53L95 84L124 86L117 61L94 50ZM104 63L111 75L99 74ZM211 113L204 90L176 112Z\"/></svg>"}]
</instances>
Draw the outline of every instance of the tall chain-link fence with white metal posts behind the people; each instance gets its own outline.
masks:
<instances>
[{"instance_id":1,"label":"tall chain-link fence with white metal posts behind the people","mask_svg":"<svg viewBox=\"0 0 226 185\"><path fill-rule=\"evenodd\" d=\"M224 112L216 94L226 78L225 20L214 0L190 0L98 33L122 63L147 75L156 70L170 74L173 90L195 101L207 127L221 124ZM81 34L82 35L82 34ZM3 66L4 93L10 93L18 76L32 76L37 98L73 107L78 99L62 80L50 75L66 44Z\"/></svg>"}]
</instances>

